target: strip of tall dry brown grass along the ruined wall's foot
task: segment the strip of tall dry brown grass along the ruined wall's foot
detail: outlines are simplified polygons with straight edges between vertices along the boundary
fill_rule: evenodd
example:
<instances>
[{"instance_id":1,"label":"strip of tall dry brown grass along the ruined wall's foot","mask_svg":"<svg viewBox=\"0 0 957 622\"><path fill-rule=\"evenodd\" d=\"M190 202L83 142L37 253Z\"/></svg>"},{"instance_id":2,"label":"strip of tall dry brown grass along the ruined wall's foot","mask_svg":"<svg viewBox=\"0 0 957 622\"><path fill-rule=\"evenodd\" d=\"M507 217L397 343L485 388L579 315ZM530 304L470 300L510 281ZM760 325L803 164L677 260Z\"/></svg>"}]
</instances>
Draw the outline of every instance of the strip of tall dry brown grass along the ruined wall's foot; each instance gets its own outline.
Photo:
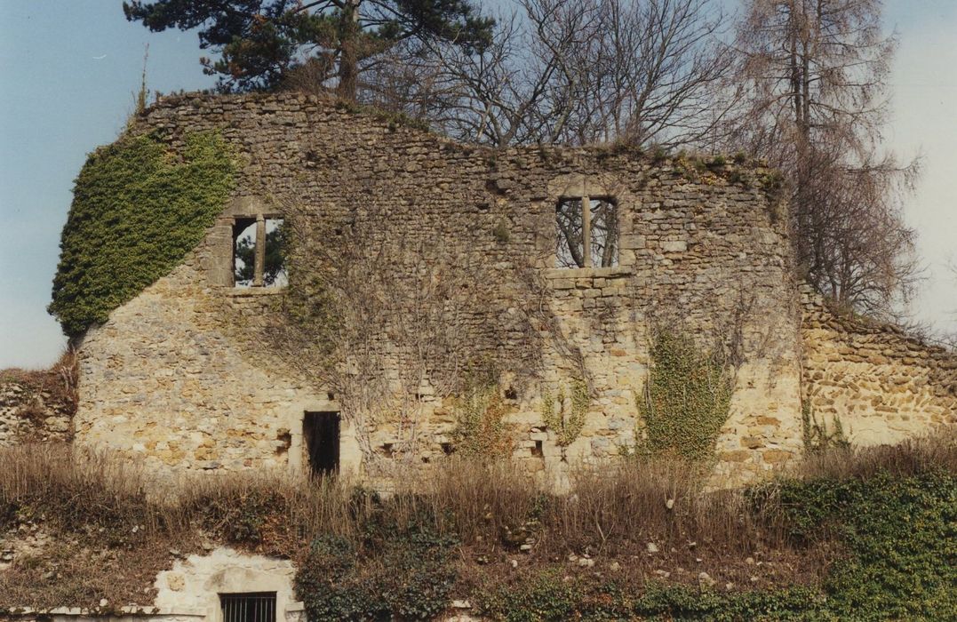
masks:
<instances>
[{"instance_id":1,"label":"strip of tall dry brown grass along the ruined wall's foot","mask_svg":"<svg viewBox=\"0 0 957 622\"><path fill-rule=\"evenodd\" d=\"M957 473L954 433L811 455L792 477L906 477L940 469ZM51 529L125 544L131 525L164 538L202 531L290 556L320 534L359 543L370 522L424 526L455 535L466 548L481 543L507 551L531 543L529 554L543 558L585 550L639 555L649 543L662 551L698 544L744 558L792 545L780 512L741 492L709 492L704 480L679 461L621 461L575 474L569 493L555 496L507 462L453 456L405 478L385 499L336 478L285 473L194 476L160 488L128 460L29 445L0 449L0 526L42 520Z\"/></svg>"}]
</instances>

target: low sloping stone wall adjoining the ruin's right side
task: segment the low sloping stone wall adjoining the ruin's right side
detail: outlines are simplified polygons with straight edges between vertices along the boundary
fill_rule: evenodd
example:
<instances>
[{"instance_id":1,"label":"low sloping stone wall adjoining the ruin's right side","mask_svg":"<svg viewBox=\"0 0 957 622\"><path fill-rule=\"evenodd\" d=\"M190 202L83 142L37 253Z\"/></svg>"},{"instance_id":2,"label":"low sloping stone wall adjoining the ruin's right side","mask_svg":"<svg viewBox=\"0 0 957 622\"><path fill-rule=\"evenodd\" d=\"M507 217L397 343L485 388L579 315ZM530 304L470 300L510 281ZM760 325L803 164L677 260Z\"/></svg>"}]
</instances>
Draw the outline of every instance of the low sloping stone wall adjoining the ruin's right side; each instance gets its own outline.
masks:
<instances>
[{"instance_id":1,"label":"low sloping stone wall adjoining the ruin's right side","mask_svg":"<svg viewBox=\"0 0 957 622\"><path fill-rule=\"evenodd\" d=\"M957 424L957 355L889 324L833 311L804 287L804 395L812 421L855 445Z\"/></svg>"}]
</instances>

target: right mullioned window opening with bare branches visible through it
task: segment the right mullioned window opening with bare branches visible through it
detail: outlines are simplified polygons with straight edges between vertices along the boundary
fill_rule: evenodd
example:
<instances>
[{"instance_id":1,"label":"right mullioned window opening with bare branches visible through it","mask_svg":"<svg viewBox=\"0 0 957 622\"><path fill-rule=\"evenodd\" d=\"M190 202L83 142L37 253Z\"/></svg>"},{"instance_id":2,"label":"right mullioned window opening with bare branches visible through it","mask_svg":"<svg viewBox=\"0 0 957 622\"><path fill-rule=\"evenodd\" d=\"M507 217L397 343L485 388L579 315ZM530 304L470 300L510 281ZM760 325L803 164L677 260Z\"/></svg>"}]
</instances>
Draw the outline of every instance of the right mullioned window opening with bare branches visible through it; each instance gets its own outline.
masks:
<instances>
[{"instance_id":1,"label":"right mullioned window opening with bare branches visible through it","mask_svg":"<svg viewBox=\"0 0 957 622\"><path fill-rule=\"evenodd\" d=\"M555 208L555 267L618 265L618 210L611 197L563 197Z\"/></svg>"}]
</instances>

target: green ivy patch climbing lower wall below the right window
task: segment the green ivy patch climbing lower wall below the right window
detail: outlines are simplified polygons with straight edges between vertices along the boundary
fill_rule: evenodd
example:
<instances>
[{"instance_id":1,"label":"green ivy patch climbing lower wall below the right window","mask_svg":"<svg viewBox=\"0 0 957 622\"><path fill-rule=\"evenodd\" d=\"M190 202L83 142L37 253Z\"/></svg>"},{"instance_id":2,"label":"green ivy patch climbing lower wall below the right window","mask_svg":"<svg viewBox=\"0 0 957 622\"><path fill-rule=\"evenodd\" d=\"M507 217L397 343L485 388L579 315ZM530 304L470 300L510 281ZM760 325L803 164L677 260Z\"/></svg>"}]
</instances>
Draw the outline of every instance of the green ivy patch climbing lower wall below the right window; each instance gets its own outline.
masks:
<instances>
[{"instance_id":1,"label":"green ivy patch climbing lower wall below the right window","mask_svg":"<svg viewBox=\"0 0 957 622\"><path fill-rule=\"evenodd\" d=\"M734 383L717 353L701 352L690 337L658 331L644 397L638 399L644 453L702 460L714 454Z\"/></svg>"}]
</instances>

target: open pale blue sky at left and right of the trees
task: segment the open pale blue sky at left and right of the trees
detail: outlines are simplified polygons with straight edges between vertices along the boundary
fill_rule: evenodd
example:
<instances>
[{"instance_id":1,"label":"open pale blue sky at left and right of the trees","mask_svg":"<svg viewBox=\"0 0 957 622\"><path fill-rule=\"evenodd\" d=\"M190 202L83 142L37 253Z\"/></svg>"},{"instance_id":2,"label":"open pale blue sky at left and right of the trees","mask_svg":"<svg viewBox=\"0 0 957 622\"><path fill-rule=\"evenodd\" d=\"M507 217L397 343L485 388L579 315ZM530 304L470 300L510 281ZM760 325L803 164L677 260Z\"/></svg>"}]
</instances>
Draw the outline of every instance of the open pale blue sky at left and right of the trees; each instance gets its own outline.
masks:
<instances>
[{"instance_id":1,"label":"open pale blue sky at left and right of the trees","mask_svg":"<svg viewBox=\"0 0 957 622\"><path fill-rule=\"evenodd\" d=\"M196 35L149 33L120 0L0 0L0 368L44 367L64 340L46 314L73 179L119 136L149 43L154 91L211 86ZM957 0L888 0L901 39L888 144L924 155L906 217L921 235L927 281L918 317L957 331Z\"/></svg>"}]
</instances>

